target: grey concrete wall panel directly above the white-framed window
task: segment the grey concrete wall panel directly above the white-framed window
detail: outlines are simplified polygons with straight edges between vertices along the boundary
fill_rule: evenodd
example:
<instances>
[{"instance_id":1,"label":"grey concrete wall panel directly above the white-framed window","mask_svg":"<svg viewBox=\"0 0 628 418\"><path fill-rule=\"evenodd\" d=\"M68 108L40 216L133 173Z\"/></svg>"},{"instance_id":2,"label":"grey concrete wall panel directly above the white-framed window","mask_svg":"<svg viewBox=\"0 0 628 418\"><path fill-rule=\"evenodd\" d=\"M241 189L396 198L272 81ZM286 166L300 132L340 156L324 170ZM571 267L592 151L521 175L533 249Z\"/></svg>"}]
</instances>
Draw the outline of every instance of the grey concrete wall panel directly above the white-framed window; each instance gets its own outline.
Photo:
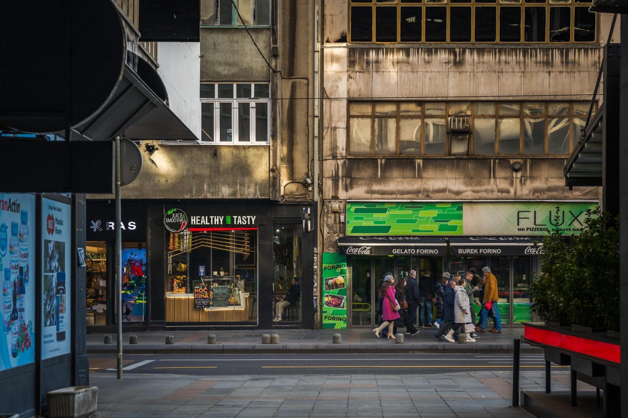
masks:
<instances>
[{"instance_id":1,"label":"grey concrete wall panel directly above the white-framed window","mask_svg":"<svg viewBox=\"0 0 628 418\"><path fill-rule=\"evenodd\" d=\"M269 28L250 28L251 35L265 56L270 56ZM263 81L270 69L259 56L244 28L200 29L201 81Z\"/></svg>"}]
</instances>

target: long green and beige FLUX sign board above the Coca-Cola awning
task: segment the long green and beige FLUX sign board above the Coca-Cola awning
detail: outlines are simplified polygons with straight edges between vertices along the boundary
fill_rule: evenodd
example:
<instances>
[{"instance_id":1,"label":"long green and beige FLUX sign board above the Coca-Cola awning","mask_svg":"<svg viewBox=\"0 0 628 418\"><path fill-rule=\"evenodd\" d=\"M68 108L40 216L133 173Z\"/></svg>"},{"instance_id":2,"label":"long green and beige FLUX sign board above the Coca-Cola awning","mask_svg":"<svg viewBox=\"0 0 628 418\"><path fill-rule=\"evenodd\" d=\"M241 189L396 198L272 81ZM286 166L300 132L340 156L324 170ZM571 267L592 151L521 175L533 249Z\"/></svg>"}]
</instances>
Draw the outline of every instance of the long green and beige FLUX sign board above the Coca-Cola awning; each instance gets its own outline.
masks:
<instances>
[{"instance_id":1,"label":"long green and beige FLUX sign board above the Coca-Cola awning","mask_svg":"<svg viewBox=\"0 0 628 418\"><path fill-rule=\"evenodd\" d=\"M591 201L348 202L347 235L542 236L554 228L577 235L587 210L597 206Z\"/></svg>"}]
</instances>

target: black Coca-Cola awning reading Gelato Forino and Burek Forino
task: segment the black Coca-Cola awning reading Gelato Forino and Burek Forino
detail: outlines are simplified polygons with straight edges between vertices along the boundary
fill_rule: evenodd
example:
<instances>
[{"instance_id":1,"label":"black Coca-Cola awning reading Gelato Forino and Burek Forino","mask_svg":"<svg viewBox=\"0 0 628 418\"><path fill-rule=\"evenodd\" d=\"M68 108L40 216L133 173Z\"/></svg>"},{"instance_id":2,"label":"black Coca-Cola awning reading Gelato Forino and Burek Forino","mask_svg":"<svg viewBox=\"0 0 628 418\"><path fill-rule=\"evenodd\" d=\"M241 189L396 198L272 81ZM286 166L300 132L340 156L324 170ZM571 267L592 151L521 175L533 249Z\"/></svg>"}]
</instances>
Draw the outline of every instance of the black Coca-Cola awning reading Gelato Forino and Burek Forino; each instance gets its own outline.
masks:
<instances>
[{"instance_id":1,"label":"black Coca-Cola awning reading Gelato Forino and Burek Forino","mask_svg":"<svg viewBox=\"0 0 628 418\"><path fill-rule=\"evenodd\" d=\"M537 255L543 252L543 238L342 237L338 250L345 255Z\"/></svg>"}]
</instances>

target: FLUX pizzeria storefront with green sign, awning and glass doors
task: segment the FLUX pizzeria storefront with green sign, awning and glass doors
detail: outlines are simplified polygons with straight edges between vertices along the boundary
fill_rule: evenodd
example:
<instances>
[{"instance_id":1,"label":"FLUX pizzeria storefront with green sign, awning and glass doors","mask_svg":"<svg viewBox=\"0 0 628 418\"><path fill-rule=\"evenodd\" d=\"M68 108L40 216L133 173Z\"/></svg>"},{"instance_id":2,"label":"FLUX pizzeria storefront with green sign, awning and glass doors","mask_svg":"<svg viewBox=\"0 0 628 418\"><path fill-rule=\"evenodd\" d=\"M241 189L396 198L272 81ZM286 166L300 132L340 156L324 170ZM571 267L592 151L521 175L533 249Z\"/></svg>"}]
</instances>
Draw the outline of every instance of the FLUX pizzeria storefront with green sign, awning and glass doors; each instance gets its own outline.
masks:
<instances>
[{"instance_id":1,"label":"FLUX pizzeria storefront with green sign, awning and glass doors","mask_svg":"<svg viewBox=\"0 0 628 418\"><path fill-rule=\"evenodd\" d=\"M556 227L565 235L579 233L587 209L596 206L593 201L349 201L347 236L338 238L338 254L323 254L323 328L376 324L386 272L397 279L411 270L417 277L429 272L436 282L443 272L464 276L471 267L481 275L487 265L497 277L502 323L531 321L528 286L532 272L539 271L543 235ZM335 289L329 277L347 286Z\"/></svg>"}]
</instances>

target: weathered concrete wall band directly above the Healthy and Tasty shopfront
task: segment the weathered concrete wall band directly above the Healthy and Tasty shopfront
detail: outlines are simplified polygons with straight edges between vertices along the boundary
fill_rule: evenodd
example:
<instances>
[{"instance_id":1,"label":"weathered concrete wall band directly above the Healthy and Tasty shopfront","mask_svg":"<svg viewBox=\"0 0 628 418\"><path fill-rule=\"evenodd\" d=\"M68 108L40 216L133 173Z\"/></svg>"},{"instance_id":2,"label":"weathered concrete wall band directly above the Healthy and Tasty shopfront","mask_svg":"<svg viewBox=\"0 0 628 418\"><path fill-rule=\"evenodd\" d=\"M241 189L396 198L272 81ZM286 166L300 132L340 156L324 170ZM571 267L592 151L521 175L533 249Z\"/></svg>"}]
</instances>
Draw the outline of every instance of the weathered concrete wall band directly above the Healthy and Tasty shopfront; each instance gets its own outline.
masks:
<instances>
[{"instance_id":1,"label":"weathered concrete wall band directly above the Healthy and Tasty shopfront","mask_svg":"<svg viewBox=\"0 0 628 418\"><path fill-rule=\"evenodd\" d=\"M268 146L175 145L149 156L142 147L142 171L122 198L268 198L268 153Z\"/></svg>"}]
</instances>

